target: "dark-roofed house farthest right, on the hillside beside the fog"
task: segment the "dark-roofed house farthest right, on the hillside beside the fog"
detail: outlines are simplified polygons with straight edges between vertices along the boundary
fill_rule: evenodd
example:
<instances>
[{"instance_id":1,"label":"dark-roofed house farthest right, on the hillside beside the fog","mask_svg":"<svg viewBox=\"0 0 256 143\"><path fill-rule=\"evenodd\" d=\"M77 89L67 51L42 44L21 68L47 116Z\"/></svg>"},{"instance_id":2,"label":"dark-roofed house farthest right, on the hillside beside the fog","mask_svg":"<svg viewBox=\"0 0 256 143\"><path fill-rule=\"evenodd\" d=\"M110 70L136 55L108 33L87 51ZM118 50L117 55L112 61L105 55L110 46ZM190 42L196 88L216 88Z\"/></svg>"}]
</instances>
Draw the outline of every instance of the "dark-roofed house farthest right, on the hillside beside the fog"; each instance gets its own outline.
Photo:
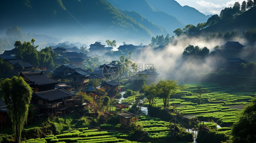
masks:
<instances>
[{"instance_id":1,"label":"dark-roofed house farthest right, on the hillside beside the fog","mask_svg":"<svg viewBox=\"0 0 256 143\"><path fill-rule=\"evenodd\" d=\"M226 58L235 58L240 56L240 52L245 47L239 42L228 41L227 43L220 46L221 53Z\"/></svg>"}]
</instances>

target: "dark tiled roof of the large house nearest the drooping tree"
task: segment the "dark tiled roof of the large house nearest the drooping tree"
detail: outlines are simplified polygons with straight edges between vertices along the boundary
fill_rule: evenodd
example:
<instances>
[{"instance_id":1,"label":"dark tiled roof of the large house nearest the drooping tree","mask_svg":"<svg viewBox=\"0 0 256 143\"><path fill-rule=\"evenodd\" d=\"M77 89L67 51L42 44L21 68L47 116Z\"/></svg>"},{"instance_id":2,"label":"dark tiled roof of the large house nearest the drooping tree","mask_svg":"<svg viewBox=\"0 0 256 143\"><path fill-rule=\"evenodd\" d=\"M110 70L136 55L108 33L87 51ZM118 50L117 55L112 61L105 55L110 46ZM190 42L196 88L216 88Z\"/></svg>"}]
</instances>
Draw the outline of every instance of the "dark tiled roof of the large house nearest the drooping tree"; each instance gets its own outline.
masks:
<instances>
[{"instance_id":1,"label":"dark tiled roof of the large house nearest the drooping tree","mask_svg":"<svg viewBox=\"0 0 256 143\"><path fill-rule=\"evenodd\" d=\"M74 96L75 94L71 94L67 92L65 89L52 89L41 92L35 92L32 96L37 96L46 101L53 101L57 99L63 99L66 97Z\"/></svg>"}]
</instances>

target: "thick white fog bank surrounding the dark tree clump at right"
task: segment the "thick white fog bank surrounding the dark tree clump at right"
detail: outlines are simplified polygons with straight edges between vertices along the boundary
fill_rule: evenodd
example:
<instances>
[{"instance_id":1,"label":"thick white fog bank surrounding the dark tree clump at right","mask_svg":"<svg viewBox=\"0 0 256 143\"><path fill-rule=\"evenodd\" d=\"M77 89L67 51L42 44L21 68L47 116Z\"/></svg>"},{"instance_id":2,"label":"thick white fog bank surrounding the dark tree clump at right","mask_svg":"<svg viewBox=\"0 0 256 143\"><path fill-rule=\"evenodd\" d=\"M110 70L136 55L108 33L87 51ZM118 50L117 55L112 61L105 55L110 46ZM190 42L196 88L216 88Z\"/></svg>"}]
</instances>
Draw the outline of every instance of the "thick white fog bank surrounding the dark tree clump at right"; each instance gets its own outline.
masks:
<instances>
[{"instance_id":1,"label":"thick white fog bank surrounding the dark tree clump at right","mask_svg":"<svg viewBox=\"0 0 256 143\"><path fill-rule=\"evenodd\" d=\"M175 39L166 49L155 51L145 49L138 59L134 59L139 64L154 64L160 79L174 79L181 81L201 81L205 78L205 73L215 72L217 61L220 57L209 56L205 59L189 57L184 60L182 53L189 45L207 47L210 52L216 45L225 44L222 40L211 40L206 42L200 38ZM146 54L147 53L147 54ZM217 60L218 59L218 60Z\"/></svg>"}]
</instances>

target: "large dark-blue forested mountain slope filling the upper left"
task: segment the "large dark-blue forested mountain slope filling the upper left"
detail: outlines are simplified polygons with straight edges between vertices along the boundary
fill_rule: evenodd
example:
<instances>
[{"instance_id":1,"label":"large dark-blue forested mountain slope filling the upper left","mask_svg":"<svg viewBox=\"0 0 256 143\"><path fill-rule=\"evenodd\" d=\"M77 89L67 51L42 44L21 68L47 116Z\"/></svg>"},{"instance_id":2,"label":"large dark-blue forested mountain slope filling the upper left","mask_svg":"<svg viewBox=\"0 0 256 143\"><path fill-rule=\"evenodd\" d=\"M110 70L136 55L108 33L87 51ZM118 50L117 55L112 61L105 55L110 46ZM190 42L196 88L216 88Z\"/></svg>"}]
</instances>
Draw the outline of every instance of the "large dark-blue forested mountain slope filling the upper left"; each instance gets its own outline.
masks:
<instances>
[{"instance_id":1,"label":"large dark-blue forested mountain slope filling the upper left","mask_svg":"<svg viewBox=\"0 0 256 143\"><path fill-rule=\"evenodd\" d=\"M59 37L84 35L93 41L151 39L153 35L107 0L4 0L0 15L1 31L17 25L23 31Z\"/></svg>"}]
</instances>

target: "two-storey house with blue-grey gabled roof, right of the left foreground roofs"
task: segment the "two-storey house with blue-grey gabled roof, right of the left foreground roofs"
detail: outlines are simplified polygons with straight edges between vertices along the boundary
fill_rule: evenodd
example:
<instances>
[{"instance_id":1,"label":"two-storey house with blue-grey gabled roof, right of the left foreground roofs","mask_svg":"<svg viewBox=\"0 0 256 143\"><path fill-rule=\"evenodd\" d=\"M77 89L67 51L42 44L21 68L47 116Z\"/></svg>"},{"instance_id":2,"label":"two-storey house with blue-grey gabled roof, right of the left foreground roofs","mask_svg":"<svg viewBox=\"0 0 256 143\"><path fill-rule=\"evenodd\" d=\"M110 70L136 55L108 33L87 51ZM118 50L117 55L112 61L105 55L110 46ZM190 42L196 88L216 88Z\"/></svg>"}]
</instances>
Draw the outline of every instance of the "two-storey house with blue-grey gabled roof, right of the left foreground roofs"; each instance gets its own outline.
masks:
<instances>
[{"instance_id":1,"label":"two-storey house with blue-grey gabled roof, right of the left foreground roofs","mask_svg":"<svg viewBox=\"0 0 256 143\"><path fill-rule=\"evenodd\" d=\"M89 81L90 74L83 70L76 70L69 74L69 82L71 88L79 89L84 88L85 84Z\"/></svg>"}]
</instances>

